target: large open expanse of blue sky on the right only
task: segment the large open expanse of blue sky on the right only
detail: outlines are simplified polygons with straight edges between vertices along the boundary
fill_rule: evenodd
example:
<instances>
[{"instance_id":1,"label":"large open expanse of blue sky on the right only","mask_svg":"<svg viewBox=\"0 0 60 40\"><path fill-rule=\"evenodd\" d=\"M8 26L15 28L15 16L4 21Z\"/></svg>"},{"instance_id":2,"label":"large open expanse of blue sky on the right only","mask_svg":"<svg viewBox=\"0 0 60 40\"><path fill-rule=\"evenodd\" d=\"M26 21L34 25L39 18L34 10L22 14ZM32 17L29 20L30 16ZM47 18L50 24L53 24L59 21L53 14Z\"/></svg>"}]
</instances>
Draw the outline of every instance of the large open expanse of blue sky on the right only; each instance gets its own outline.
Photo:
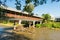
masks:
<instances>
[{"instance_id":1,"label":"large open expanse of blue sky on the right only","mask_svg":"<svg viewBox=\"0 0 60 40\"><path fill-rule=\"evenodd\" d=\"M47 4L37 6L34 11L38 15L49 13L54 17L60 17L60 2L48 2Z\"/></svg>"}]
</instances>

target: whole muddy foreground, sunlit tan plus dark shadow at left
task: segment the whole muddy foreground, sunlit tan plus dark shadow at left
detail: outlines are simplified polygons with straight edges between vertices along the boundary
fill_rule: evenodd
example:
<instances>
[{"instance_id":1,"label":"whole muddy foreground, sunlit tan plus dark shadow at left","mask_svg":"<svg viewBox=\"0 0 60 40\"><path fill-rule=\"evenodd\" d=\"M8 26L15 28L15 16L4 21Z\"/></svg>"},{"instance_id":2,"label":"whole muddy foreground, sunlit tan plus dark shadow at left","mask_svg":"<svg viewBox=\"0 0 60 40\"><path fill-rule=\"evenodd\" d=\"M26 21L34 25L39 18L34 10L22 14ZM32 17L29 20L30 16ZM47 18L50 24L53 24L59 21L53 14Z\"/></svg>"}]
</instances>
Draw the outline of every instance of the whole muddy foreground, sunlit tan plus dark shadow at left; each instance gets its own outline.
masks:
<instances>
[{"instance_id":1,"label":"whole muddy foreground, sunlit tan plus dark shadow at left","mask_svg":"<svg viewBox=\"0 0 60 40\"><path fill-rule=\"evenodd\" d=\"M7 30L7 31L5 31ZM2 34L0 39L6 40L60 40L60 29L59 28L32 28L29 27L26 30L12 30L5 28L0 33ZM7 35L8 34L8 35ZM4 37L4 35L6 35ZM11 35L11 36L10 36Z\"/></svg>"}]
</instances>

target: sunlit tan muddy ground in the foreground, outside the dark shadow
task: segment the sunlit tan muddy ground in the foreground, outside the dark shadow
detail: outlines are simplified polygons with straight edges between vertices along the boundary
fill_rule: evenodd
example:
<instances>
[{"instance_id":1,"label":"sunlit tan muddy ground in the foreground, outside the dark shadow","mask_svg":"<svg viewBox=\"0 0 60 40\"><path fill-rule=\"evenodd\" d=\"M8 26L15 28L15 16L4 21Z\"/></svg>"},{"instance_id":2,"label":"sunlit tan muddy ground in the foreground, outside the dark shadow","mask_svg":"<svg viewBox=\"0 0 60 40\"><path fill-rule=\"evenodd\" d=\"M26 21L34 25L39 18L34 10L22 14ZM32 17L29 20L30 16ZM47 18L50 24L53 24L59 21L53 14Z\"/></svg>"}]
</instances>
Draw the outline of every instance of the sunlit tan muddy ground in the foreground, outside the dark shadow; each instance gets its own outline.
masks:
<instances>
[{"instance_id":1,"label":"sunlit tan muddy ground in the foreground, outside the dark shadow","mask_svg":"<svg viewBox=\"0 0 60 40\"><path fill-rule=\"evenodd\" d=\"M31 31L14 31L16 34L24 35L32 40L60 40L59 28L34 28Z\"/></svg>"}]
</instances>

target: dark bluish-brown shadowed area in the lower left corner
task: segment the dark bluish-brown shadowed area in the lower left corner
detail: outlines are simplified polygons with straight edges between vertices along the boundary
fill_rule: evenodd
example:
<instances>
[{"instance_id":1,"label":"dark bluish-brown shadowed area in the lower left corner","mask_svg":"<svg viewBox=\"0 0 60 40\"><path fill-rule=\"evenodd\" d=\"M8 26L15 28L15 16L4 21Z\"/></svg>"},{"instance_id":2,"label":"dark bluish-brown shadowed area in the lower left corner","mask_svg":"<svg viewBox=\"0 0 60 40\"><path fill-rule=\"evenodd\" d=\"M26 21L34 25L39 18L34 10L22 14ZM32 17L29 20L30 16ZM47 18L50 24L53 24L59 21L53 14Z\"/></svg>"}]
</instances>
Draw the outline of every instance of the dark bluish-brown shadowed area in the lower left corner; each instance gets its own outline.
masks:
<instances>
[{"instance_id":1,"label":"dark bluish-brown shadowed area in the lower left corner","mask_svg":"<svg viewBox=\"0 0 60 40\"><path fill-rule=\"evenodd\" d=\"M14 32L8 32L6 30L12 30L13 28L0 27L0 40L30 40L30 38L24 35L18 35Z\"/></svg>"}]
</instances>

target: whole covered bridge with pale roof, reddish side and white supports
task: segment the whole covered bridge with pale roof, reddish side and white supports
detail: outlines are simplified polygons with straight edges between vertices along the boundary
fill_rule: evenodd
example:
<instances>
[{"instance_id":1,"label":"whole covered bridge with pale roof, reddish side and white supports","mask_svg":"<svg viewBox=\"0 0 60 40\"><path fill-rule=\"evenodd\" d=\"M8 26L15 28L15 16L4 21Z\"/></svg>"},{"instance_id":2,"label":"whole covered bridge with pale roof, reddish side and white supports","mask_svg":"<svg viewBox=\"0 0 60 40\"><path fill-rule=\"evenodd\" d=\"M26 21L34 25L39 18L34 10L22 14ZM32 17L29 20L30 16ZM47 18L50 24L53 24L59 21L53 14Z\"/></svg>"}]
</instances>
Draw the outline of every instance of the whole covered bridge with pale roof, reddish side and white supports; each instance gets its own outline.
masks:
<instances>
[{"instance_id":1,"label":"whole covered bridge with pale roof, reddish side and white supports","mask_svg":"<svg viewBox=\"0 0 60 40\"><path fill-rule=\"evenodd\" d=\"M1 5L0 8L3 10L8 20L17 21L19 24L21 24L22 21L29 21L29 26L31 26L30 22L32 21L33 26L35 26L35 22L39 22L41 24L43 20L41 17L31 16L27 12L23 12L14 8L5 7L3 5Z\"/></svg>"}]
</instances>

